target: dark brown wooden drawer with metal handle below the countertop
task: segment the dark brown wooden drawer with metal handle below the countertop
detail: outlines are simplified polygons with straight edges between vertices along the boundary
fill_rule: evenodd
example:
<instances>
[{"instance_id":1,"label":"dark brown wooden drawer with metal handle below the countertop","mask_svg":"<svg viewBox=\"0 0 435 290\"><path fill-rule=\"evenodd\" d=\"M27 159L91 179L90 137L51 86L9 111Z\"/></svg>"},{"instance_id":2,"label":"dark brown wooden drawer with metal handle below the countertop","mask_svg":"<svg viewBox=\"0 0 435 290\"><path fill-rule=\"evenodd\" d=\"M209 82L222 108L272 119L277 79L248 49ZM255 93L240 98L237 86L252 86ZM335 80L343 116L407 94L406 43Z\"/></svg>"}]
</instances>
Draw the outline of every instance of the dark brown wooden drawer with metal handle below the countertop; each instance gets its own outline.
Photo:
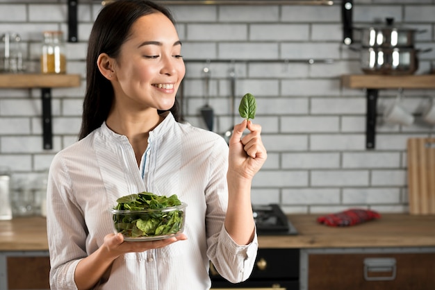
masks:
<instances>
[{"instance_id":1,"label":"dark brown wooden drawer with metal handle below the countertop","mask_svg":"<svg viewBox=\"0 0 435 290\"><path fill-rule=\"evenodd\" d=\"M433 290L435 253L310 254L309 290Z\"/></svg>"}]
</instances>

